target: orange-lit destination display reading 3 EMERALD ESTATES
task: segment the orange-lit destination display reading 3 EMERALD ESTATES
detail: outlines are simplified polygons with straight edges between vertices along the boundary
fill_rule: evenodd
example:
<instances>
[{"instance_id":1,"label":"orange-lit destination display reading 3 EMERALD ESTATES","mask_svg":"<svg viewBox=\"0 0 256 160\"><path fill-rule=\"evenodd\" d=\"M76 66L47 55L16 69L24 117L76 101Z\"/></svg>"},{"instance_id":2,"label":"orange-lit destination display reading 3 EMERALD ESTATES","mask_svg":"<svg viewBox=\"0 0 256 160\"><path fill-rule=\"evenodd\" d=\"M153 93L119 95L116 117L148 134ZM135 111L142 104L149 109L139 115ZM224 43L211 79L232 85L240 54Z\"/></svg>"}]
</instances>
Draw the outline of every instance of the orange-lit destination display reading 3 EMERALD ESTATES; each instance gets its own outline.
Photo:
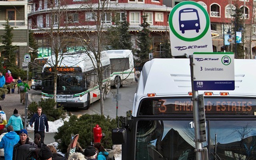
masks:
<instances>
[{"instance_id":1,"label":"orange-lit destination display reading 3 EMERALD ESTATES","mask_svg":"<svg viewBox=\"0 0 256 160\"><path fill-rule=\"evenodd\" d=\"M204 98L205 113L254 115L256 99L242 98ZM147 109L146 109L147 108ZM140 115L193 114L190 98L149 98L142 101Z\"/></svg>"}]
</instances>

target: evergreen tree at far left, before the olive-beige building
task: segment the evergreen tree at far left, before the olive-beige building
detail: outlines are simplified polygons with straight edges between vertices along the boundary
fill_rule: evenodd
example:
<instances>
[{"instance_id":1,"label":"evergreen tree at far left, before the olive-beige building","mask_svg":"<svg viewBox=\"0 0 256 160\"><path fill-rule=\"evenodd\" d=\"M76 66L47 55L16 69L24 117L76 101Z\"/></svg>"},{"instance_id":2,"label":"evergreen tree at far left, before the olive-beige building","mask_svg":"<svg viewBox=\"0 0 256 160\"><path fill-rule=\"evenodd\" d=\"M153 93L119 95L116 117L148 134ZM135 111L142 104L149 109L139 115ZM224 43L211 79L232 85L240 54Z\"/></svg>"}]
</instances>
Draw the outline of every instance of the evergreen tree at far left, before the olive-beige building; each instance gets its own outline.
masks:
<instances>
[{"instance_id":1,"label":"evergreen tree at far left, before the olive-beige building","mask_svg":"<svg viewBox=\"0 0 256 160\"><path fill-rule=\"evenodd\" d=\"M1 36L2 45L1 53L4 53L4 58L7 58L4 62L6 68L10 68L12 66L16 66L16 46L12 45L12 37L13 37L13 27L9 25L9 21L6 21L6 24L3 24L5 34Z\"/></svg>"}]
</instances>

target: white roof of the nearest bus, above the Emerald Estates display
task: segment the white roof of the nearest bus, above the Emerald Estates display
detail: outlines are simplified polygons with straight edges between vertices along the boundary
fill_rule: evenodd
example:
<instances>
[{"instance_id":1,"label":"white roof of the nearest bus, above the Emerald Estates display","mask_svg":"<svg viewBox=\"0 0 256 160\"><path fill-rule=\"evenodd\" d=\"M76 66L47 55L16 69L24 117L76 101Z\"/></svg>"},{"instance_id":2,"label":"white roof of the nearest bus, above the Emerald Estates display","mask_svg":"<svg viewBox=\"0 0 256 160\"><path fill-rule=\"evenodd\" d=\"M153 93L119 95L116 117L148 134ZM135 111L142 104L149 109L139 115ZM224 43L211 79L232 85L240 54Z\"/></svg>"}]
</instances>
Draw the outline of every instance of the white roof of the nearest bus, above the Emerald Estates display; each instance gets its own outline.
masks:
<instances>
[{"instance_id":1,"label":"white roof of the nearest bus, above the Emerald Estates display","mask_svg":"<svg viewBox=\"0 0 256 160\"><path fill-rule=\"evenodd\" d=\"M136 94L135 101L156 93L156 96L188 96L192 92L190 78L190 60L188 58L154 58L144 64ZM220 92L228 92L229 96L256 96L255 71L256 60L235 59L235 90L202 90L213 92L213 96L220 96Z\"/></svg>"}]
</instances>

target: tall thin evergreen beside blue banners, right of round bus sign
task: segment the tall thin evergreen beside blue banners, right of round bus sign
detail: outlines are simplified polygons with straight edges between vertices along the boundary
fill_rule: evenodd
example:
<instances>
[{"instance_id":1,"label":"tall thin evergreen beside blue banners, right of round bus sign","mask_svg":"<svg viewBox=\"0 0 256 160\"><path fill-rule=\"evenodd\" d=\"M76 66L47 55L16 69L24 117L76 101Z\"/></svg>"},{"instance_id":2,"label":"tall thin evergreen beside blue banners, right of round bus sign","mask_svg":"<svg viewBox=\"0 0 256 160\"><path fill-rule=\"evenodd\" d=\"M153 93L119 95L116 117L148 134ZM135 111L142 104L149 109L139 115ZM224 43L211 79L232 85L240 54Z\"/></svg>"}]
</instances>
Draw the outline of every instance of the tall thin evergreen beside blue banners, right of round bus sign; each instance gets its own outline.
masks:
<instances>
[{"instance_id":1,"label":"tall thin evergreen beside blue banners, right of round bus sign","mask_svg":"<svg viewBox=\"0 0 256 160\"><path fill-rule=\"evenodd\" d=\"M234 30L234 35L236 34L235 32L238 32L238 31L240 31L240 28L242 27L242 25L243 25L243 20L242 20L242 16L243 16L243 9L242 8L239 8L237 5L236 5L236 9L234 10L234 14L233 15L231 15L233 18L234 18L234 20L233 20L233 26L234 26L234 28L233 28L233 30ZM235 40L236 40L236 38L235 38ZM235 46L235 43L234 43L234 45L233 45L233 52L235 53L235 50L236 50L236 57L235 58L243 58L243 46L242 46L242 44L240 44L240 43L236 43L236 46Z\"/></svg>"}]
</instances>

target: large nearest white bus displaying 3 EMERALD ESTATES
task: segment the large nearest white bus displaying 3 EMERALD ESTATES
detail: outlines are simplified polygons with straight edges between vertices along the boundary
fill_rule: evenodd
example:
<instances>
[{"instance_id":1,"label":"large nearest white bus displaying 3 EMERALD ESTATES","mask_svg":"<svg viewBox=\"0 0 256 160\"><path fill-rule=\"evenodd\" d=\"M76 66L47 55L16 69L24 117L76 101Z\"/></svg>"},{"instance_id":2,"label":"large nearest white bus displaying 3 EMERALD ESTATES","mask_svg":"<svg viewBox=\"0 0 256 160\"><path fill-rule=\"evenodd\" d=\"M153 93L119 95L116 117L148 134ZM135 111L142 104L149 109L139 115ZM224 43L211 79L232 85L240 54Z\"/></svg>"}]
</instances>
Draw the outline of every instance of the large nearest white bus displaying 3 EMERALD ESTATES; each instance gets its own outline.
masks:
<instances>
[{"instance_id":1,"label":"large nearest white bus displaying 3 EMERALD ESTATES","mask_svg":"<svg viewBox=\"0 0 256 160\"><path fill-rule=\"evenodd\" d=\"M209 160L256 160L256 60L235 59L234 65L235 90L198 91L204 94L202 146ZM189 59L146 62L132 116L119 117L124 140L118 142L112 131L113 143L122 144L122 160L196 160L191 98Z\"/></svg>"}]
</instances>

